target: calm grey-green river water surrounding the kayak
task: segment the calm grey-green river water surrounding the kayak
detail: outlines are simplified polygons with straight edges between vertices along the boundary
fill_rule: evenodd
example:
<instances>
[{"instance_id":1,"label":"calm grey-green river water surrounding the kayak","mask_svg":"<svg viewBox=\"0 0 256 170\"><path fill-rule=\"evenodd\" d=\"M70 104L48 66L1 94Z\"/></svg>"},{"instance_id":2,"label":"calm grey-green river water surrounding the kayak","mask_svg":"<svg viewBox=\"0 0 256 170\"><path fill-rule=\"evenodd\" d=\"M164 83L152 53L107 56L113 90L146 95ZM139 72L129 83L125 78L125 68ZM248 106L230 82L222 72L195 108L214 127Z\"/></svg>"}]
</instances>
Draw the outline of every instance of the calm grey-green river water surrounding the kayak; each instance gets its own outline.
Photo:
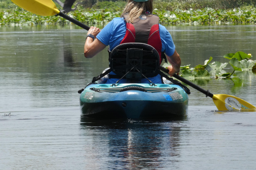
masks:
<instances>
[{"instance_id":1,"label":"calm grey-green river water surrounding the kayak","mask_svg":"<svg viewBox=\"0 0 256 170\"><path fill-rule=\"evenodd\" d=\"M255 25L167 29L182 65L256 56ZM178 120L84 120L77 91L108 67L106 49L84 58L85 37L78 27L0 27L0 169L255 169L256 112L215 111L192 88ZM256 106L256 73L234 76L191 81Z\"/></svg>"}]
</instances>

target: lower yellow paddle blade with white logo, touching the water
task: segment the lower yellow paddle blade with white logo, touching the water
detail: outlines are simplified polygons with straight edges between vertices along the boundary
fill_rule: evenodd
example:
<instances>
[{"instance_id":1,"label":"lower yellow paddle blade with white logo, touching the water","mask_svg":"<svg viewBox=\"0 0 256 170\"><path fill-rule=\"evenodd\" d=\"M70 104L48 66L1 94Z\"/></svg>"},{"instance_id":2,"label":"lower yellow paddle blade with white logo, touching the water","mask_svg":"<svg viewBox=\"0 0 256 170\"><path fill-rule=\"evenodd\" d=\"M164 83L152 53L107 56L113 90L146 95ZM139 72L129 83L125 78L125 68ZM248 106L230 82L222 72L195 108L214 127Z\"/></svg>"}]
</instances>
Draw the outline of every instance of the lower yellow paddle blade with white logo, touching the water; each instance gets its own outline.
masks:
<instances>
[{"instance_id":1,"label":"lower yellow paddle blade with white logo, touching the water","mask_svg":"<svg viewBox=\"0 0 256 170\"><path fill-rule=\"evenodd\" d=\"M219 111L225 110L255 110L256 107L235 96L217 94L212 97Z\"/></svg>"}]
</instances>

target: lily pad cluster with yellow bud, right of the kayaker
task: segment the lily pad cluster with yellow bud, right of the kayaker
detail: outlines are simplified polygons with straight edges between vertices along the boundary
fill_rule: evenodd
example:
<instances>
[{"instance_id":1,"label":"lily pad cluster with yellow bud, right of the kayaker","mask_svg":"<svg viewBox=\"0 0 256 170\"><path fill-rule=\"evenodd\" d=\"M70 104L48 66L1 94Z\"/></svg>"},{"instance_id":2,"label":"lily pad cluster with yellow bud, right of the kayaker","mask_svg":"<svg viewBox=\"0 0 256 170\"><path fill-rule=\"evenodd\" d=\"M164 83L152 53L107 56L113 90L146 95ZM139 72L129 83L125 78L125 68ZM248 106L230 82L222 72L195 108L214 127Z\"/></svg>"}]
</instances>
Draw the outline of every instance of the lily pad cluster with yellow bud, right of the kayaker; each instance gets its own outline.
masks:
<instances>
[{"instance_id":1,"label":"lily pad cluster with yellow bud, right of the kayaker","mask_svg":"<svg viewBox=\"0 0 256 170\"><path fill-rule=\"evenodd\" d=\"M252 60L251 54L246 54L242 51L236 53L228 53L223 56L227 58L229 62L221 63L219 61L212 61L212 57L209 60L205 60L204 64L199 64L190 68L189 65L181 66L181 76L186 78L209 78L209 71L215 70L215 78L231 78L231 75L235 71L248 71L256 72L256 60ZM230 64L233 68L233 72L226 72L224 69ZM164 67L168 67L169 64L164 64Z\"/></svg>"}]
</instances>

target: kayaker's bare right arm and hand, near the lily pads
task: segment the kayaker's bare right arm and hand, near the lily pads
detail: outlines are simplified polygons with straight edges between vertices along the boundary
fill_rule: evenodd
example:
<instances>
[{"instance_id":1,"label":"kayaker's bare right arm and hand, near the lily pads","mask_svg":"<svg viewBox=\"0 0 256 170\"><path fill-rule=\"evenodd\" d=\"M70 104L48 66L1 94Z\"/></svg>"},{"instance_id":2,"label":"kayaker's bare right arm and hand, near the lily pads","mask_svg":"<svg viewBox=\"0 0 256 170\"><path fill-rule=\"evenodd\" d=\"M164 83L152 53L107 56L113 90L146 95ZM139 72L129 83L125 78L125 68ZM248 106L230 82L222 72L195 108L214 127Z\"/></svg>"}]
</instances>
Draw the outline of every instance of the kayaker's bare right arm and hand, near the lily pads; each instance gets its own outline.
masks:
<instances>
[{"instance_id":1,"label":"kayaker's bare right arm and hand, near the lily pads","mask_svg":"<svg viewBox=\"0 0 256 170\"><path fill-rule=\"evenodd\" d=\"M180 72L181 59L180 55L175 50L172 56L166 55L168 61L170 62L170 66L168 66L170 76L173 76L175 73Z\"/></svg>"}]
</instances>

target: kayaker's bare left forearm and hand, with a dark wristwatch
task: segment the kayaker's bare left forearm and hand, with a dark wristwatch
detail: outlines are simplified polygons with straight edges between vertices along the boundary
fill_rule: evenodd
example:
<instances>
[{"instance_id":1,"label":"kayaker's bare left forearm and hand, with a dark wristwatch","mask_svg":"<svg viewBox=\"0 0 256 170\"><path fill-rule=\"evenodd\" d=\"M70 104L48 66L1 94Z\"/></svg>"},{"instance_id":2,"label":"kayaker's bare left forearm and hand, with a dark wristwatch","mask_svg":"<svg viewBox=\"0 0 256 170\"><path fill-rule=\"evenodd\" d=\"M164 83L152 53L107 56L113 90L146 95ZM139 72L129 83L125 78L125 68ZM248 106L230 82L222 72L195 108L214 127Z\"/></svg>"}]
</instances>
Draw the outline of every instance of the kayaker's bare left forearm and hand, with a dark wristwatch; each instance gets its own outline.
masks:
<instances>
[{"instance_id":1,"label":"kayaker's bare left forearm and hand, with a dark wristwatch","mask_svg":"<svg viewBox=\"0 0 256 170\"><path fill-rule=\"evenodd\" d=\"M92 34L95 37L99 34L100 29L96 27L91 27L87 33ZM99 41L97 38L93 41L92 38L88 37L84 44L84 56L86 58L92 58L97 53L99 53L101 50L103 50L107 45L103 44L101 41Z\"/></svg>"}]
</instances>

